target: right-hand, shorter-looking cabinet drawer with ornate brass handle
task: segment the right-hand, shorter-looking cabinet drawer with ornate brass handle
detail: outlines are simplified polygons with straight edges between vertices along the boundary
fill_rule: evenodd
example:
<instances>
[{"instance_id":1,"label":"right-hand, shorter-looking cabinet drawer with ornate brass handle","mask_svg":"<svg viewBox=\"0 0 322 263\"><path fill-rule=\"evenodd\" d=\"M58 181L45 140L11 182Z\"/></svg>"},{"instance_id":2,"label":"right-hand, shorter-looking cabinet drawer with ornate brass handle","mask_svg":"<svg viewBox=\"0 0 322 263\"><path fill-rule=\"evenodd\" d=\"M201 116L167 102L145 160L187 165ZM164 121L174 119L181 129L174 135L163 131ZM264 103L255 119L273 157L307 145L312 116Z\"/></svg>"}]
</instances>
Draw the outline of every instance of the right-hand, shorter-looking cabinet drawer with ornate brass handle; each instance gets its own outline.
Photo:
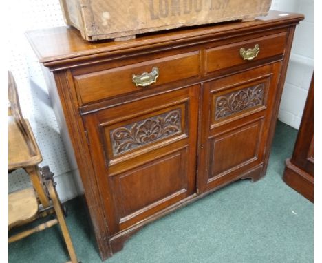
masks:
<instances>
[{"instance_id":1,"label":"right-hand, shorter-looking cabinet drawer with ornate brass handle","mask_svg":"<svg viewBox=\"0 0 322 263\"><path fill-rule=\"evenodd\" d=\"M206 52L206 74L215 70L266 59L284 53L286 32L262 36L238 43L209 48ZM244 54L241 54L244 49ZM247 54L246 54L247 53ZM244 57L243 57L244 56Z\"/></svg>"}]
</instances>

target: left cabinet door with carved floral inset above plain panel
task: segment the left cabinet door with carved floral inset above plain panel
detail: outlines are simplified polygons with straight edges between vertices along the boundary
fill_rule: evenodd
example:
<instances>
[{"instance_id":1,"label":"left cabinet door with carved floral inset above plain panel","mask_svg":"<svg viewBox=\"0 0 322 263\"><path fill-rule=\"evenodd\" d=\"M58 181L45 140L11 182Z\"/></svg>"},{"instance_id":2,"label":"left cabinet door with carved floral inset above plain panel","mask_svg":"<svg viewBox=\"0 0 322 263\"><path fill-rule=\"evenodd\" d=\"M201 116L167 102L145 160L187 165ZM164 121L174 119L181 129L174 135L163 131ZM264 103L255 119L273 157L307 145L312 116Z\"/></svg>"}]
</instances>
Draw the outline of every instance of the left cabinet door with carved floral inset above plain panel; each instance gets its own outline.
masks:
<instances>
[{"instance_id":1,"label":"left cabinet door with carved floral inset above plain panel","mask_svg":"<svg viewBox=\"0 0 322 263\"><path fill-rule=\"evenodd\" d=\"M111 234L195 193L199 85L84 117Z\"/></svg>"}]
</instances>

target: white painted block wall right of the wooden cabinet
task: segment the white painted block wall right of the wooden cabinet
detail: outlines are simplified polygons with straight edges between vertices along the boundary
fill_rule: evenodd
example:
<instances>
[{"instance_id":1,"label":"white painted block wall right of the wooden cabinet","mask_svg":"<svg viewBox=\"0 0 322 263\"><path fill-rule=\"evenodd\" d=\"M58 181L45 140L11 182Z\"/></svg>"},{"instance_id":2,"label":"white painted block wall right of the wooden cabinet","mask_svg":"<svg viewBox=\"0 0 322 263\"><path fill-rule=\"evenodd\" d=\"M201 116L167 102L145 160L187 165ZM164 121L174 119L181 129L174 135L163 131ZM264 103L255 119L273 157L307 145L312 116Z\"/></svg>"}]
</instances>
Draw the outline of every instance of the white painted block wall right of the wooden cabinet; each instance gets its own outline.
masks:
<instances>
[{"instance_id":1,"label":"white painted block wall right of the wooden cabinet","mask_svg":"<svg viewBox=\"0 0 322 263\"><path fill-rule=\"evenodd\" d=\"M299 129L313 72L313 0L272 0L271 9L305 15L295 31L278 117Z\"/></svg>"}]
</instances>

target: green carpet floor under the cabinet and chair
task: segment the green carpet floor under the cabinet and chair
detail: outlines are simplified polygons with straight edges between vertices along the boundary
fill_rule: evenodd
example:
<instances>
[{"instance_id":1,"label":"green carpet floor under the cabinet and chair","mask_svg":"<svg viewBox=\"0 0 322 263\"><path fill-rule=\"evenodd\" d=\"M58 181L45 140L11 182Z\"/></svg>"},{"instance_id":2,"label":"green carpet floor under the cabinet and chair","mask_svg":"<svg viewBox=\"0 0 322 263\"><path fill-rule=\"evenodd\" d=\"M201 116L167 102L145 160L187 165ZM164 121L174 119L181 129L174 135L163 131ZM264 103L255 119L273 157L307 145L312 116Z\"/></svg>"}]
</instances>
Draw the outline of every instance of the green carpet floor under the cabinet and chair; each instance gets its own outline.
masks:
<instances>
[{"instance_id":1,"label":"green carpet floor under the cabinet and chair","mask_svg":"<svg viewBox=\"0 0 322 263\"><path fill-rule=\"evenodd\" d=\"M147 225L106 262L313 262L313 204L281 178L296 136L295 129L277 123L265 178L239 180ZM80 200L67 207L79 260L100 262ZM11 263L67 260L57 226L9 246Z\"/></svg>"}]
</instances>

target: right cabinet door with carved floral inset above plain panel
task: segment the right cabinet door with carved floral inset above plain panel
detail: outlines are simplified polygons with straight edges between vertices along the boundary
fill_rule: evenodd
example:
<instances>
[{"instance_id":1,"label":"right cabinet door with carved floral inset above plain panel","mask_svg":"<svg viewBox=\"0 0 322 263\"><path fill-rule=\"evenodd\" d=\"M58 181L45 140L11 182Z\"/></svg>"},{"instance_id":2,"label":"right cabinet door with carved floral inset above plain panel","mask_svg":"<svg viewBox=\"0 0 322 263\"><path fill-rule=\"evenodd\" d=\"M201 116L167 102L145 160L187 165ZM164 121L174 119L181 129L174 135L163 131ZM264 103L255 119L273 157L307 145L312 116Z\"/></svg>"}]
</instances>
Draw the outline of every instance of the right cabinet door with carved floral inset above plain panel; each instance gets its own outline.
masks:
<instances>
[{"instance_id":1,"label":"right cabinet door with carved floral inset above plain panel","mask_svg":"<svg viewBox=\"0 0 322 263\"><path fill-rule=\"evenodd\" d=\"M281 63L204 84L198 191L261 169Z\"/></svg>"}]
</instances>

